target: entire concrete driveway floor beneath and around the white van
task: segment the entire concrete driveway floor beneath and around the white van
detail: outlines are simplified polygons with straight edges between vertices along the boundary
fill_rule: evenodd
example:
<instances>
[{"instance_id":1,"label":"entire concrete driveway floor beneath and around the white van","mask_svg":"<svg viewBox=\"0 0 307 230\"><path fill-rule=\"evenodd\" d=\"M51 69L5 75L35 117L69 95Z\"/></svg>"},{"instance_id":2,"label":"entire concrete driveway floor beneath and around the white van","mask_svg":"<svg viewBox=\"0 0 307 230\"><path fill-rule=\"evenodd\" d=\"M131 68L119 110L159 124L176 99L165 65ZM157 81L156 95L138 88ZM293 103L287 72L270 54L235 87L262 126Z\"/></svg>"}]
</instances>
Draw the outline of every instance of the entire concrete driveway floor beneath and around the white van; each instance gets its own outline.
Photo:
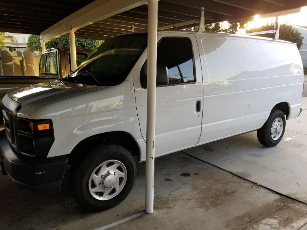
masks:
<instances>
[{"instance_id":1,"label":"entire concrete driveway floor beneath and around the white van","mask_svg":"<svg viewBox=\"0 0 307 230\"><path fill-rule=\"evenodd\" d=\"M306 230L307 98L303 109L274 148L251 132L158 158L154 213L111 229ZM119 223L145 208L145 163L137 170L126 200L101 213L80 209L66 182L60 193L35 194L0 175L0 229L102 230Z\"/></svg>"}]
</instances>

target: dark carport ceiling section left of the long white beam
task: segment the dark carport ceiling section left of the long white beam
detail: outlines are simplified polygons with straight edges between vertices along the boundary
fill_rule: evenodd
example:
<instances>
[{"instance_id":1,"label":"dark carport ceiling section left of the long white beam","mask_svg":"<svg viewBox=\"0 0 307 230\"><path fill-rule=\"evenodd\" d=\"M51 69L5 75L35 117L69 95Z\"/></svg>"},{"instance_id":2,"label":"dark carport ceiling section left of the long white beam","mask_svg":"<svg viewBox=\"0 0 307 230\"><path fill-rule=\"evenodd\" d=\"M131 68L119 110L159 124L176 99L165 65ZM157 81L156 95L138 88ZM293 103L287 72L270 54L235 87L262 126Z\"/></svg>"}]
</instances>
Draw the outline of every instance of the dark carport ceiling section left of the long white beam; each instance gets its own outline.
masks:
<instances>
[{"instance_id":1,"label":"dark carport ceiling section left of the long white beam","mask_svg":"<svg viewBox=\"0 0 307 230\"><path fill-rule=\"evenodd\" d=\"M0 31L41 34L94 0L1 0Z\"/></svg>"}]
</instances>

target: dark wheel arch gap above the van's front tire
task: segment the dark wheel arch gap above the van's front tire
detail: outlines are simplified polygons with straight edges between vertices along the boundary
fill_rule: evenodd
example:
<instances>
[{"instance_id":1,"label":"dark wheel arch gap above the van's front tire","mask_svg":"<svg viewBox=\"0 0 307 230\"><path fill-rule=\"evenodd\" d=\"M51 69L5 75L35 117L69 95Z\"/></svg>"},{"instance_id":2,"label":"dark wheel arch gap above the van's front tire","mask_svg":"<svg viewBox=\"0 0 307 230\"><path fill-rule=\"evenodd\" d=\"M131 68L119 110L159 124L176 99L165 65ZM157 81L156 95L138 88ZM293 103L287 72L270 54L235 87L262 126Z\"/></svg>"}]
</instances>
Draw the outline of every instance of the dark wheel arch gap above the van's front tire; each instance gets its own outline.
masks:
<instances>
[{"instance_id":1,"label":"dark wheel arch gap above the van's front tire","mask_svg":"<svg viewBox=\"0 0 307 230\"><path fill-rule=\"evenodd\" d=\"M74 161L80 159L82 155L84 155L85 151L89 148L93 148L96 145L101 145L101 143L112 143L118 144L128 151L130 151L131 155L140 161L140 147L138 146L137 141L133 138L133 136L125 131L113 131L113 132L105 132L96 134L93 136L89 136L84 140L80 141L71 151L70 154L67 155L68 164L74 163Z\"/></svg>"}]
</instances>

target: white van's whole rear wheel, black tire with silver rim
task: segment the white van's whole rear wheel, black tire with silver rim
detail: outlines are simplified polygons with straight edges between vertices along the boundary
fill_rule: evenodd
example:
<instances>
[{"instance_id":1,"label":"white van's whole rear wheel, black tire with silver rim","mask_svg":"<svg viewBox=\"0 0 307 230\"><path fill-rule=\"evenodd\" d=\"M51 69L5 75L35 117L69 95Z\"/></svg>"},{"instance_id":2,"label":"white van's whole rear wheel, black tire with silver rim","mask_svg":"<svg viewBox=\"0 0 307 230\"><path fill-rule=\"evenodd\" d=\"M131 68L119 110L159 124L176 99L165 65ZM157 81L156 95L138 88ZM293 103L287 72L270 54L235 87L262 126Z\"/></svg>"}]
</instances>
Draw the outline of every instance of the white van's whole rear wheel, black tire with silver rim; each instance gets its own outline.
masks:
<instances>
[{"instance_id":1,"label":"white van's whole rear wheel, black tire with silver rim","mask_svg":"<svg viewBox=\"0 0 307 230\"><path fill-rule=\"evenodd\" d=\"M267 147L273 147L277 145L284 135L286 128L285 114L277 109L271 112L270 117L266 120L266 123L257 130L257 137L260 144Z\"/></svg>"}]
</instances>

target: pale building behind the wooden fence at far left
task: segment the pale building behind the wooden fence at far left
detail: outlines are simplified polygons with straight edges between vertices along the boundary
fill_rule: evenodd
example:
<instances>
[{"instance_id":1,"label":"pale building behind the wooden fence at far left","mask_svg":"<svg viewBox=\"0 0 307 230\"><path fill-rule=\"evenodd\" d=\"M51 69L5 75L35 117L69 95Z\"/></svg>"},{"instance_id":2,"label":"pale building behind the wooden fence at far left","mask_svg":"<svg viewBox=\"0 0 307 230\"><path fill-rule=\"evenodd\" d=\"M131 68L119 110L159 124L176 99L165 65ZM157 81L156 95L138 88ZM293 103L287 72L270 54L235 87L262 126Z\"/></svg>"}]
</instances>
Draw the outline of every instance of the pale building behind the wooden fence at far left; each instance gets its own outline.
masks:
<instances>
[{"instance_id":1,"label":"pale building behind the wooden fence at far left","mask_svg":"<svg viewBox=\"0 0 307 230\"><path fill-rule=\"evenodd\" d=\"M23 33L7 33L7 35L13 36L14 42L6 40L4 42L5 47L3 48L3 50L9 50L10 52L20 51L21 53L23 53L25 51L25 48L27 47L27 42L30 35Z\"/></svg>"}]
</instances>

